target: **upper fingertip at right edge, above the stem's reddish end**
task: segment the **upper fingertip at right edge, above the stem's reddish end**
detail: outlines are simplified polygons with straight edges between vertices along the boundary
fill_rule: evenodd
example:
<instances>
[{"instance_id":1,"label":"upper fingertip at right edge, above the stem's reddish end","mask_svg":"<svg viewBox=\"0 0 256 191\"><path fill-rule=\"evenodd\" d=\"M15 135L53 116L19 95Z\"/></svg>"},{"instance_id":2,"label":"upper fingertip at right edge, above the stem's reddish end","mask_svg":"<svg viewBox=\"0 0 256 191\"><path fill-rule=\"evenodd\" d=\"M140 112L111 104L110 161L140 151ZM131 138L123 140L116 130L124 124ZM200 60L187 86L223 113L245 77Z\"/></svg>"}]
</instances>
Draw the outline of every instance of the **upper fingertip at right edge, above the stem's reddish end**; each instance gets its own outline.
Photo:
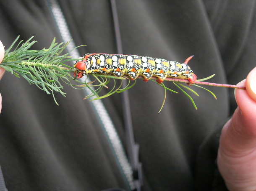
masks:
<instances>
[{"instance_id":1,"label":"upper fingertip at right edge, above the stem's reddish end","mask_svg":"<svg viewBox=\"0 0 256 191\"><path fill-rule=\"evenodd\" d=\"M245 85L251 99L256 101L256 67L248 74Z\"/></svg>"}]
</instances>

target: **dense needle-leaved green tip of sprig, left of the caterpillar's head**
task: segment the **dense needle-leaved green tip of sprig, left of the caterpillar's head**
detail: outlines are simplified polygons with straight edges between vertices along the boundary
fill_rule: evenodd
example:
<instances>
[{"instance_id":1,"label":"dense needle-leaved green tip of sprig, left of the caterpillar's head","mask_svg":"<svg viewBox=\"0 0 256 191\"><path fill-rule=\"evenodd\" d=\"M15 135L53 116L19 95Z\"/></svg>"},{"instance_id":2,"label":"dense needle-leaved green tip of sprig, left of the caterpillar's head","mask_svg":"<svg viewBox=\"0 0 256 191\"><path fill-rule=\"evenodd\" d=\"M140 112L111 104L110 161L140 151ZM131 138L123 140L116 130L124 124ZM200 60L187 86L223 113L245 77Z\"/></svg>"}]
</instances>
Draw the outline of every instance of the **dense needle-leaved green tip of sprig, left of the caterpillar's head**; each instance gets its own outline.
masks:
<instances>
[{"instance_id":1,"label":"dense needle-leaved green tip of sprig, left of the caterpillar's head","mask_svg":"<svg viewBox=\"0 0 256 191\"><path fill-rule=\"evenodd\" d=\"M67 43L55 43L55 39L52 41L49 48L43 48L42 50L30 50L31 46L37 41L28 41L22 43L20 41L15 47L18 38L11 44L10 48L5 51L0 67L6 71L11 72L18 78L24 77L29 84L35 84L39 89L44 90L47 94L51 94L54 97L54 92L60 92L65 96L62 91L63 86L61 81L69 81L71 79L71 71L74 69L64 62L71 61L71 56L68 53L60 55L69 42ZM14 49L13 51L11 51ZM57 104L57 101L54 97Z\"/></svg>"}]
</instances>

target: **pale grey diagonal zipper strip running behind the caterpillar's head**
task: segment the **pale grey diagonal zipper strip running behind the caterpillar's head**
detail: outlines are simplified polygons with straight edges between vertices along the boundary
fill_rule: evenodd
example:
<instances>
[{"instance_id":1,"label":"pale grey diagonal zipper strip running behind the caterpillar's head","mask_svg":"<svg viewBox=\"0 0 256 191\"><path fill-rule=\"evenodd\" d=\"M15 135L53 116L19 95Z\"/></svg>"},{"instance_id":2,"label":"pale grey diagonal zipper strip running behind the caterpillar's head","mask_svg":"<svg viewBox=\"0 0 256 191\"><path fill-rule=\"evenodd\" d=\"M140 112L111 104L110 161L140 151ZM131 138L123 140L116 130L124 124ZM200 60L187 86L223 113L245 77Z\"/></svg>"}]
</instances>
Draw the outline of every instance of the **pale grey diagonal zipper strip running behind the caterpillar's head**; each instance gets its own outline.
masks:
<instances>
[{"instance_id":1,"label":"pale grey diagonal zipper strip running behind the caterpillar's head","mask_svg":"<svg viewBox=\"0 0 256 191\"><path fill-rule=\"evenodd\" d=\"M68 29L68 25L65 21L65 17L62 13L62 10L60 9L60 6L58 5L56 0L48 0L48 1L50 4L50 8L52 10L52 15L59 29L60 36L63 38L64 42L70 41L72 39L71 33ZM67 50L68 52L70 52L70 55L73 58L79 58L80 57L79 52L77 49L74 49L74 48L76 48L76 45L74 41L71 41L67 46ZM84 81L84 78L81 78L79 80ZM94 89L94 88L91 87L91 89ZM85 88L84 91L86 95L91 94L88 88ZM133 190L135 186L133 182L132 168L130 163L128 162L128 158L125 155L123 145L120 141L120 138L115 129L115 126L112 120L110 119L110 116L108 115L107 110L104 107L101 100L99 99L94 100L93 102L91 102L91 104L93 105L95 112L99 116L99 120L102 126L104 127L105 132L107 133L112 149L114 150L115 156L118 159L118 163L122 168L126 181L128 182L128 186L131 188L131 190Z\"/></svg>"}]
</instances>

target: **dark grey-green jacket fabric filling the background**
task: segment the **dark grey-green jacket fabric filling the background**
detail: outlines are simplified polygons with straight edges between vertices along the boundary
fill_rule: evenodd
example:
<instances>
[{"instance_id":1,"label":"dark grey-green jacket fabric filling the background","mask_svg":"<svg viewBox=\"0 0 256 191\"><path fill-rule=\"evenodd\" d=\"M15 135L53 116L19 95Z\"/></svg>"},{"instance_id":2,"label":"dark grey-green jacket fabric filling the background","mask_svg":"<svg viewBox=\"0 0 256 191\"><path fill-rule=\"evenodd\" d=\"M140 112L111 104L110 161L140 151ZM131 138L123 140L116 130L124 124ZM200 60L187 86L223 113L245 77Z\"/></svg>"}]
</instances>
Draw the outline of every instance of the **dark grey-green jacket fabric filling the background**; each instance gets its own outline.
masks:
<instances>
[{"instance_id":1,"label":"dark grey-green jacket fabric filling the background","mask_svg":"<svg viewBox=\"0 0 256 191\"><path fill-rule=\"evenodd\" d=\"M255 1L117 0L124 54L189 62L198 79L237 84L256 61ZM108 0L60 1L76 45L85 53L117 53ZM35 36L49 47L57 30L47 0L0 0L0 40ZM179 91L172 82L165 86ZM128 190L110 143L85 94L63 84L52 98L25 79L0 81L0 165L9 191ZM216 166L220 130L236 107L233 89L192 87L195 110L181 92L138 79L128 90L144 191L225 191ZM122 94L102 100L126 150ZM107 121L106 121L107 123Z\"/></svg>"}]
</instances>

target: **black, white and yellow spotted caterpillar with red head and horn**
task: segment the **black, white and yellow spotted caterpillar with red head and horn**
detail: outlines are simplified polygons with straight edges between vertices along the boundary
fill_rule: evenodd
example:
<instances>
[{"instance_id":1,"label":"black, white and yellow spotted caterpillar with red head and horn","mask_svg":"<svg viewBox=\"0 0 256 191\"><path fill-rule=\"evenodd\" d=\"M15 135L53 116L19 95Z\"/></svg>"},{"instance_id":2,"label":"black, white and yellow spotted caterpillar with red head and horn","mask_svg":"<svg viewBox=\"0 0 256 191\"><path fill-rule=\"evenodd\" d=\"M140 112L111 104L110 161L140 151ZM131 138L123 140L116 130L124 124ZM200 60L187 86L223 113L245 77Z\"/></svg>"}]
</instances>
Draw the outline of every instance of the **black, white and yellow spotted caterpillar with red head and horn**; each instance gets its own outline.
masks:
<instances>
[{"instance_id":1,"label":"black, white and yellow spotted caterpillar with red head and horn","mask_svg":"<svg viewBox=\"0 0 256 191\"><path fill-rule=\"evenodd\" d=\"M162 83L167 77L187 79L189 84L196 81L196 74L188 66L188 57L183 64L165 59L153 59L149 56L88 53L81 56L74 64L74 77L81 78L90 73L113 74L115 76L128 75L131 80L143 76L144 81L149 81L152 76L157 77L157 82Z\"/></svg>"}]
</instances>

